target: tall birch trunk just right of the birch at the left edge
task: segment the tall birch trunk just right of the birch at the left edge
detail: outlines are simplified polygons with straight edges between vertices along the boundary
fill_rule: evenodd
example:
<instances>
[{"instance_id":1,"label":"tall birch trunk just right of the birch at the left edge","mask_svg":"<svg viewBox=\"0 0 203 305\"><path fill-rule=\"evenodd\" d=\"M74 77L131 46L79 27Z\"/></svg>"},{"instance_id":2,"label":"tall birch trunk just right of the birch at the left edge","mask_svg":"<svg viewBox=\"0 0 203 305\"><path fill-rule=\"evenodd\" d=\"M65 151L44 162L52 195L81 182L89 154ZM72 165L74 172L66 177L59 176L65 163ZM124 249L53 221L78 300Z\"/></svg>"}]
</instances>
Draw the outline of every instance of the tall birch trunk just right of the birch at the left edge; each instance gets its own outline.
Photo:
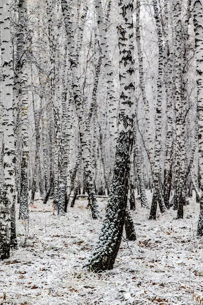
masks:
<instances>
[{"instance_id":1,"label":"tall birch trunk just right of the birch at the left edge","mask_svg":"<svg viewBox=\"0 0 203 305\"><path fill-rule=\"evenodd\" d=\"M19 33L17 39L16 65L15 65L15 94L17 98L18 113L21 128L22 141L22 158L20 165L20 206L19 219L27 219L28 211L28 158L29 158L29 137L28 137L28 92L27 79L28 71L26 65L26 18L27 18L27 2L19 0L18 3L18 24ZM19 121L17 121L17 124Z\"/></svg>"}]
</instances>

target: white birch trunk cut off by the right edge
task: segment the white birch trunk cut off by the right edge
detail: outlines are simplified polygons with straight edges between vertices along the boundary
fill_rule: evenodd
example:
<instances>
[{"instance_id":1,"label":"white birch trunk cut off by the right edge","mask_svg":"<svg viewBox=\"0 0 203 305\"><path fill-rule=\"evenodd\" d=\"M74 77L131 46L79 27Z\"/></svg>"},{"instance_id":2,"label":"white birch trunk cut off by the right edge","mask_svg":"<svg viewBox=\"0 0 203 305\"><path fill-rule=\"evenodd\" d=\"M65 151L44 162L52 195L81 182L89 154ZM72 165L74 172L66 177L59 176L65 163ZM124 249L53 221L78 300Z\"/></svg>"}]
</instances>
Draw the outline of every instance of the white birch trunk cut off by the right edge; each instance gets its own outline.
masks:
<instances>
[{"instance_id":1,"label":"white birch trunk cut off by the right edge","mask_svg":"<svg viewBox=\"0 0 203 305\"><path fill-rule=\"evenodd\" d=\"M203 236L203 3L194 0L194 33L196 48L197 78L197 115L198 115L198 157L200 176L200 213L197 225L197 236Z\"/></svg>"}]
</instances>

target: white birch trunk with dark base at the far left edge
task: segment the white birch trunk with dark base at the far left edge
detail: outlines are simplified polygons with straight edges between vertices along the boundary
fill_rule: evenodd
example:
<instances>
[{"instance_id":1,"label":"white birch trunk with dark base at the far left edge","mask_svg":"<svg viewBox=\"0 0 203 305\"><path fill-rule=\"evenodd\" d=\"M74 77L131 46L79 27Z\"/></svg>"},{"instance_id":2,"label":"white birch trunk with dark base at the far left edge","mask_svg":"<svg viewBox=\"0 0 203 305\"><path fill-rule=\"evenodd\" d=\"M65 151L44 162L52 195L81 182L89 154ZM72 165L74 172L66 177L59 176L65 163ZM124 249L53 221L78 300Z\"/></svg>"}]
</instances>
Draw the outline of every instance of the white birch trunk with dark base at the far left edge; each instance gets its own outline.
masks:
<instances>
[{"instance_id":1,"label":"white birch trunk with dark base at the far left edge","mask_svg":"<svg viewBox=\"0 0 203 305\"><path fill-rule=\"evenodd\" d=\"M13 122L13 59L10 33L9 1L0 3L2 106L4 133L4 185L0 200L0 259L10 256L11 216L15 209L15 147ZM13 220L15 221L15 220ZM13 224L13 229L15 224ZM12 232L12 240L15 232Z\"/></svg>"}]
</instances>

